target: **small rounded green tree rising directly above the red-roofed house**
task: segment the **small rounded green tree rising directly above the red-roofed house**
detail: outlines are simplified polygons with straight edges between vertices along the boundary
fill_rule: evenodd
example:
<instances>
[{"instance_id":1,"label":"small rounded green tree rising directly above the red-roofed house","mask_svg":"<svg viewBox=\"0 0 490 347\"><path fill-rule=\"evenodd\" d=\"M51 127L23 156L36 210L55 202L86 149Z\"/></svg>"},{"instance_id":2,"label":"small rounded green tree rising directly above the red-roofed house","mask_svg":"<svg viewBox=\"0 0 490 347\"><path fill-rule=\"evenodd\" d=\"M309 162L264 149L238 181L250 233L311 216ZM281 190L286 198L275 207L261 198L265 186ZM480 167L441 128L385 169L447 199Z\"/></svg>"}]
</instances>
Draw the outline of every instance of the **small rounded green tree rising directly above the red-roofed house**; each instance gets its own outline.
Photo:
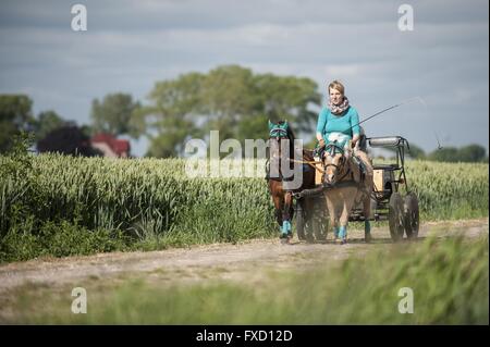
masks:
<instances>
[{"instance_id":1,"label":"small rounded green tree rising directly above the red-roofed house","mask_svg":"<svg viewBox=\"0 0 490 347\"><path fill-rule=\"evenodd\" d=\"M138 138L144 129L133 117L139 108L139 102L133 101L133 97L128 94L109 94L102 101L94 99L90 113L93 129L113 136L127 134Z\"/></svg>"}]
</instances>

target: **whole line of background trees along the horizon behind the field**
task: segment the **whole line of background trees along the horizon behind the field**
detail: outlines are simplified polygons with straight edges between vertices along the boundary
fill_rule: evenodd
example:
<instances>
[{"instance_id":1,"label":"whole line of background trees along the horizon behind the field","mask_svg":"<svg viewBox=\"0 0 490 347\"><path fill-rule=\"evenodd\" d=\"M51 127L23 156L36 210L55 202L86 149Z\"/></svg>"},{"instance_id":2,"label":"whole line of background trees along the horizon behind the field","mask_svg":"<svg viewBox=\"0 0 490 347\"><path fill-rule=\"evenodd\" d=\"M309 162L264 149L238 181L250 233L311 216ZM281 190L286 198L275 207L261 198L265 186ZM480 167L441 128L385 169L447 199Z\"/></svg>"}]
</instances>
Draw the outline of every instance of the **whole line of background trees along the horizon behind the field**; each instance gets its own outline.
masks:
<instances>
[{"instance_id":1,"label":"whole line of background trees along the horizon behind the field","mask_svg":"<svg viewBox=\"0 0 490 347\"><path fill-rule=\"evenodd\" d=\"M220 138L268 137L268 120L287 120L296 132L310 134L313 147L321 94L310 78L256 74L238 65L218 66L208 73L191 72L174 79L157 82L142 104L128 94L115 92L94 99L90 124L78 126L56 111L33 115L33 101L25 95L0 95L0 152L11 146L21 131L36 135L39 151L53 146L76 148L91 156L88 139L96 133L146 136L146 156L179 157L191 138L206 138L211 129ZM61 144L61 145L60 145ZM443 148L426 154L411 145L412 157L438 161L488 161L479 145Z\"/></svg>"}]
</instances>

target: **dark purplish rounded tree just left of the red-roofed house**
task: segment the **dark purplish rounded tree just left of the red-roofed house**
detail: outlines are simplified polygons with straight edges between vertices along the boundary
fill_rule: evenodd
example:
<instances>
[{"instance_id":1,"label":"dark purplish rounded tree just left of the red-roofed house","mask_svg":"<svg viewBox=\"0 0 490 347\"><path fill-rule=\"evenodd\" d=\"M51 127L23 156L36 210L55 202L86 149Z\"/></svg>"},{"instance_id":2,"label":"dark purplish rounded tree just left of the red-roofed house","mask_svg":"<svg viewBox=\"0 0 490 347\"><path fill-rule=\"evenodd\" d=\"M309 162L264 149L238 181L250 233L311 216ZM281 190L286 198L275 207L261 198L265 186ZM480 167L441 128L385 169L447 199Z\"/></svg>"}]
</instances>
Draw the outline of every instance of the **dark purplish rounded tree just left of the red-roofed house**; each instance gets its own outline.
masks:
<instances>
[{"instance_id":1,"label":"dark purplish rounded tree just left of the red-roofed house","mask_svg":"<svg viewBox=\"0 0 490 347\"><path fill-rule=\"evenodd\" d=\"M39 152L58 152L71 156L94 157L101 153L90 146L89 137L74 124L56 128L38 141Z\"/></svg>"}]
</instances>

